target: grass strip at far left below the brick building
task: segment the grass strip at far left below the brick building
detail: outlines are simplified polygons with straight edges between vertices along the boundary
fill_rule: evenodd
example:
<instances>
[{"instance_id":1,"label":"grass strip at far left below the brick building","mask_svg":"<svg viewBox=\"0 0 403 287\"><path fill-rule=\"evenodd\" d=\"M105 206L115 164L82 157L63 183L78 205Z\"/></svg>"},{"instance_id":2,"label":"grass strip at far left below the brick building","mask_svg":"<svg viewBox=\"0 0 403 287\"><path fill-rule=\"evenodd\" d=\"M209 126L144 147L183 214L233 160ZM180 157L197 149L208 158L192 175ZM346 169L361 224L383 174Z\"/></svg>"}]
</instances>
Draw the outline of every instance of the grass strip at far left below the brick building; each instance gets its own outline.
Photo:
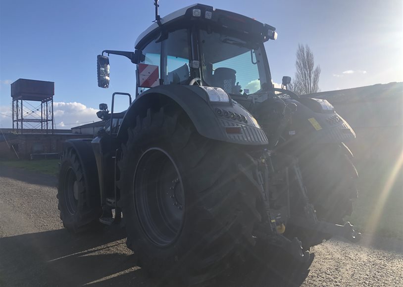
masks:
<instances>
[{"instance_id":1,"label":"grass strip at far left below the brick building","mask_svg":"<svg viewBox=\"0 0 403 287\"><path fill-rule=\"evenodd\" d=\"M59 162L59 159L0 161L0 168L16 167L39 173L56 175L58 172L57 163Z\"/></svg>"}]
</instances>

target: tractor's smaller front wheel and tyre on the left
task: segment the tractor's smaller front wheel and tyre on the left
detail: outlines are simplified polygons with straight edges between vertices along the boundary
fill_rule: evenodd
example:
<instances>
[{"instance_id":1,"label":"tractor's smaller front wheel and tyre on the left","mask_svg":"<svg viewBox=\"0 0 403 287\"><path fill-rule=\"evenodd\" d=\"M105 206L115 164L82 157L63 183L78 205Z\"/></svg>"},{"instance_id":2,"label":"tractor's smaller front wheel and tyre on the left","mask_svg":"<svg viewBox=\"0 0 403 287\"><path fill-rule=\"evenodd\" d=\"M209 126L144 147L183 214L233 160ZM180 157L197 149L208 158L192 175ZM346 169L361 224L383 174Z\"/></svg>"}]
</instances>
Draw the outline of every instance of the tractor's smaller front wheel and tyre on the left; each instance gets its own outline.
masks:
<instances>
[{"instance_id":1,"label":"tractor's smaller front wheel and tyre on the left","mask_svg":"<svg viewBox=\"0 0 403 287\"><path fill-rule=\"evenodd\" d=\"M57 199L63 226L72 233L101 226L98 221L101 204L88 190L88 180L77 152L72 147L65 148L61 156Z\"/></svg>"}]
</instances>

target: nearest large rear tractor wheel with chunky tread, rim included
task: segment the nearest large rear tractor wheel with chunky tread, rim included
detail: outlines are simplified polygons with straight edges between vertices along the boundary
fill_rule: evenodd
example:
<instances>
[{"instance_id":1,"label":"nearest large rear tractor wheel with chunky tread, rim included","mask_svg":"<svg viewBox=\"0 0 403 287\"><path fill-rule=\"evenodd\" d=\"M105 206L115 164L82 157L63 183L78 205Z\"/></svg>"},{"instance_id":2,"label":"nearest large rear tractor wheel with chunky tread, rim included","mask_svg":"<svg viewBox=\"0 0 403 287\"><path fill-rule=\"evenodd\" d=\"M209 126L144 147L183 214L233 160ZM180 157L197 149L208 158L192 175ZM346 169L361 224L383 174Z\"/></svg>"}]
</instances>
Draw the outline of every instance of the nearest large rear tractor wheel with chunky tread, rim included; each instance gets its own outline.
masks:
<instances>
[{"instance_id":1,"label":"nearest large rear tractor wheel with chunky tread, rim included","mask_svg":"<svg viewBox=\"0 0 403 287\"><path fill-rule=\"evenodd\" d=\"M177 106L148 109L129 129L119 162L127 246L152 276L193 285L253 246L259 191L238 172L252 162L201 137Z\"/></svg>"}]
</instances>

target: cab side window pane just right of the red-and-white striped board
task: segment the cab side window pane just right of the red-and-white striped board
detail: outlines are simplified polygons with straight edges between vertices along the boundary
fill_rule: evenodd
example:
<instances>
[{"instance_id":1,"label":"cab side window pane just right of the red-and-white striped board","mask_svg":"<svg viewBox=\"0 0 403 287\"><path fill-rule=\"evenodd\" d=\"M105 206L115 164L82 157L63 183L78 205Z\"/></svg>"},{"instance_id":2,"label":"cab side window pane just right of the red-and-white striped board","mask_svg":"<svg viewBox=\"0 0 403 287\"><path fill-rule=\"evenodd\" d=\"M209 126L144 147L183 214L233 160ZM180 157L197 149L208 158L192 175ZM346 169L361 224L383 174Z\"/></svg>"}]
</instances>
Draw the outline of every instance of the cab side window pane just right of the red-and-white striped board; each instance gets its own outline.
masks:
<instances>
[{"instance_id":1,"label":"cab side window pane just right of the red-and-white striped board","mask_svg":"<svg viewBox=\"0 0 403 287\"><path fill-rule=\"evenodd\" d=\"M163 51L166 57L166 72L164 84L184 84L190 82L190 43L189 32L181 29L169 33L163 41Z\"/></svg>"}]
</instances>

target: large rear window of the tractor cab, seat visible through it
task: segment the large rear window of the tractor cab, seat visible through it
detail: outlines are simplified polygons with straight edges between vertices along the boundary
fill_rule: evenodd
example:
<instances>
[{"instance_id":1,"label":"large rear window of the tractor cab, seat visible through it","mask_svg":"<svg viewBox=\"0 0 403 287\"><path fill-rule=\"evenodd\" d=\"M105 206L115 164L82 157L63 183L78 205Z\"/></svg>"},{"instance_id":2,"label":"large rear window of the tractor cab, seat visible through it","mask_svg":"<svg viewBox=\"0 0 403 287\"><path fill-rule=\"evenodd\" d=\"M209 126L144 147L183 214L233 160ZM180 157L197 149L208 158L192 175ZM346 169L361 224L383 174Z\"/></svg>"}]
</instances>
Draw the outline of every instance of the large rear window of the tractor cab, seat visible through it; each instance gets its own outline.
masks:
<instances>
[{"instance_id":1,"label":"large rear window of the tractor cab, seat visible through it","mask_svg":"<svg viewBox=\"0 0 403 287\"><path fill-rule=\"evenodd\" d=\"M267 77L262 45L218 32L200 31L203 82L230 94L252 94Z\"/></svg>"}]
</instances>

